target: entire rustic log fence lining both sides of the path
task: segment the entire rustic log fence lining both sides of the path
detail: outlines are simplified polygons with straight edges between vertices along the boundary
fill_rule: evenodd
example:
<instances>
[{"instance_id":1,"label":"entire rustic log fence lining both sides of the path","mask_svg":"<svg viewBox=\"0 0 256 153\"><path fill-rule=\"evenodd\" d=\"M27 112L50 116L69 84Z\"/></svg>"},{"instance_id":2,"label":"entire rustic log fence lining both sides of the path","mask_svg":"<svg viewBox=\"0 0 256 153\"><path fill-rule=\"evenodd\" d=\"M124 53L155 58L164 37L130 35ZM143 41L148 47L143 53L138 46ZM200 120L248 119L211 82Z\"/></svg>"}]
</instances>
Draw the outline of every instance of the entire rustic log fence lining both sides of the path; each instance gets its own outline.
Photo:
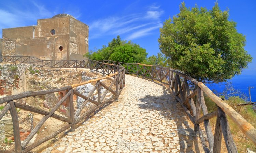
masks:
<instances>
[{"instance_id":1,"label":"entire rustic log fence lining both sides of the path","mask_svg":"<svg viewBox=\"0 0 256 153\"><path fill-rule=\"evenodd\" d=\"M248 123L232 107L230 107L223 100L217 97L203 83L198 82L197 80L183 74L178 70L174 70L172 68L165 68L161 66L146 65L146 64L140 64L140 63L122 63L122 62L114 62L110 60L101 61L101 62L94 61L94 60L73 60L73 61L41 60L40 61L40 59L38 58L33 58L29 56L28 57L24 57L24 56L23 57L21 56L20 57L18 56L17 57L1 57L1 58L2 58L2 61L4 62L19 61L22 63L33 64L39 67L90 68L91 70L96 71L96 73L101 73L103 75L106 75L105 77L102 77L99 79L89 80L85 83L80 83L80 84L64 87L61 89L38 91L38 92L31 92L31 93L27 92L24 94L13 95L7 98L0 99L0 104L7 103L4 109L2 109L2 111L0 112L0 119L9 109L10 109L10 112L12 111L11 114L13 118L13 123L16 126L14 128L15 130L14 136L15 136L15 150L17 152L21 152L21 151L27 152L32 148L35 148L36 146L40 145L41 143L53 138L58 133L70 127L71 129L74 129L75 128L74 125L77 124L79 121L81 121L84 117L86 117L89 114L89 112L85 114L80 114L82 107L84 107L87 102L91 102L97 105L94 107L93 110L91 110L91 111L94 111L95 109L101 107L104 103L109 102L112 99L117 100L120 94L120 91L123 89L125 85L125 73L135 74L137 76L142 76L143 78L157 80L163 84L169 85L170 89L174 92L175 101L180 102L181 106L184 108L188 117L194 124L194 131L199 132L200 140L205 152L207 153L220 152L222 135L224 137L228 152L232 152L232 153L238 152L230 132L229 123L227 121L226 114L234 121L234 123L238 126L238 128L256 145L256 129L250 123ZM109 77L114 78L110 86L106 86L100 81L101 79L105 79ZM96 82L96 85L94 86L93 91L89 94L88 97L82 95L81 93L75 90L75 87L86 84L86 83L91 83L91 82ZM111 89L111 87L114 84L116 85L115 91ZM193 84L195 88L192 89L191 84ZM111 99L104 101L103 99L104 99L105 93L101 96L101 98L98 98L98 101L91 99L91 96L94 90L98 90L98 93L99 93L101 86L106 89L105 93L110 91L113 94L113 97ZM41 109L34 108L28 105L23 105L23 104L13 102L13 100L17 100L17 99L28 97L28 96L35 96L40 94L43 95L47 93L66 91L66 90L68 90L68 94L66 94L68 96L65 97L66 99L68 97L69 99L72 99L73 94L76 94L77 96L80 96L81 98L85 99L85 102L81 106L81 109L77 109L76 112L70 109L70 118L65 118L57 114L54 114L54 111L56 111L56 109L55 110L52 109L52 111L48 112L48 111L43 111ZM204 101L204 94L207 95L214 103L217 104L218 106L217 111L210 112L210 113L207 111L207 106ZM195 99L193 100L195 96L196 96L196 102L194 102ZM98 97L100 97L100 95ZM65 98L63 99L63 101L65 100ZM56 105L61 103L62 102L61 100ZM70 100L70 107L73 106L73 103L71 101L72 100ZM13 113L14 112L13 110L15 107L45 115L45 117L41 120L41 122L44 122L45 120L47 120L48 116L51 116L53 118L67 122L68 124L65 125L63 128L59 129L58 131L56 131L55 133L26 147L33 133L31 132L32 133L31 136L29 135L27 137L27 140L24 141L25 143L24 142L22 144L20 143L18 125L16 125L17 115ZM201 115L201 112L203 115ZM216 125L215 125L215 131L213 133L211 130L209 119L214 117L216 117ZM201 126L204 126L205 128L207 140L204 137L200 124L202 124ZM37 126L40 126L40 125L41 124Z\"/></svg>"}]
</instances>

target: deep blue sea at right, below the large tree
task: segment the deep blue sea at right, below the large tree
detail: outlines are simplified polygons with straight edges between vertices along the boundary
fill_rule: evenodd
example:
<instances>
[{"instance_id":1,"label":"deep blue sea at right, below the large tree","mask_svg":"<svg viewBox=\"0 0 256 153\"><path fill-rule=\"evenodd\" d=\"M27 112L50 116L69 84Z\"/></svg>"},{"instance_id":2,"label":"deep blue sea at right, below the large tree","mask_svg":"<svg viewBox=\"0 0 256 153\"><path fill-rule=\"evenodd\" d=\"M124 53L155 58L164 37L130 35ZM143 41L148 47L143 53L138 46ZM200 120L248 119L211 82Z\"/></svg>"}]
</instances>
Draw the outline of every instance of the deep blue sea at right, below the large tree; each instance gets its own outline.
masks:
<instances>
[{"instance_id":1,"label":"deep blue sea at right, below the large tree","mask_svg":"<svg viewBox=\"0 0 256 153\"><path fill-rule=\"evenodd\" d=\"M249 100L249 89L251 88L251 100L252 102L256 102L256 75L237 75L234 78L227 80L227 82L231 82L232 86L235 90L240 90L247 95L247 100ZM211 90L216 90L217 92L221 93L225 89L225 84L227 82L222 82L220 84L207 84L207 87Z\"/></svg>"}]
</instances>

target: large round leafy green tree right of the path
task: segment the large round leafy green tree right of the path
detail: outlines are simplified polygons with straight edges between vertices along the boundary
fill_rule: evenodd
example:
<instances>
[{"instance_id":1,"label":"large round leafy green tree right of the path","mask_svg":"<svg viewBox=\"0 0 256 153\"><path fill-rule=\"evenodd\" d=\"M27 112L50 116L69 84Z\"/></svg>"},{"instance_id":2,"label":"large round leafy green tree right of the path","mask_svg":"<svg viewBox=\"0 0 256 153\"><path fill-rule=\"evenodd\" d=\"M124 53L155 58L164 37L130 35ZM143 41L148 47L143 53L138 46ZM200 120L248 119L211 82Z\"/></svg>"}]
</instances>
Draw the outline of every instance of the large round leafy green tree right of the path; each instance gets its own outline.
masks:
<instances>
[{"instance_id":1,"label":"large round leafy green tree right of the path","mask_svg":"<svg viewBox=\"0 0 256 153\"><path fill-rule=\"evenodd\" d=\"M169 65L204 83L219 83L238 75L252 57L245 36L218 3L212 10L180 5L180 13L160 28L159 48Z\"/></svg>"}]
</instances>

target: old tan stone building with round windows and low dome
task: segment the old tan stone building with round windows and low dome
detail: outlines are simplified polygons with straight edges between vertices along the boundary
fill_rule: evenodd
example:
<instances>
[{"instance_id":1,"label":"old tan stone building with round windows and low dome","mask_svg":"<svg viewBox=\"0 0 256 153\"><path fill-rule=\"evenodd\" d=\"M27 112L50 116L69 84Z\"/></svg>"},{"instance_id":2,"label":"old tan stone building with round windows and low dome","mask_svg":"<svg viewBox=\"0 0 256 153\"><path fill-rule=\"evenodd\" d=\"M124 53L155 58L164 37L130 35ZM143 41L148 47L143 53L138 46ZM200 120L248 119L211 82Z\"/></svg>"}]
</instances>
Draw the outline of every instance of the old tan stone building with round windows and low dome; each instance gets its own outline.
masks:
<instances>
[{"instance_id":1,"label":"old tan stone building with round windows and low dome","mask_svg":"<svg viewBox=\"0 0 256 153\"><path fill-rule=\"evenodd\" d=\"M83 59L89 27L68 14L37 20L37 25L3 29L2 56L33 56L41 60Z\"/></svg>"}]
</instances>

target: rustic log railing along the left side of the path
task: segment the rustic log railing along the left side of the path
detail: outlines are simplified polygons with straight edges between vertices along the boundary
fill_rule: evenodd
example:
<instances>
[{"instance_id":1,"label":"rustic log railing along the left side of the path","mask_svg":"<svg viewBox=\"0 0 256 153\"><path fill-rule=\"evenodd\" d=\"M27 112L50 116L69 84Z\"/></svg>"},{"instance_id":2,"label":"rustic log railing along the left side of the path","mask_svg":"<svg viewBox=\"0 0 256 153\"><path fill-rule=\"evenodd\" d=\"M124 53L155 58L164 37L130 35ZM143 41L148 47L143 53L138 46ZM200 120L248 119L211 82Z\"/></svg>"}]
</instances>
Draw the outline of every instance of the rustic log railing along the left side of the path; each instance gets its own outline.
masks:
<instances>
[{"instance_id":1,"label":"rustic log railing along the left side of the path","mask_svg":"<svg viewBox=\"0 0 256 153\"><path fill-rule=\"evenodd\" d=\"M23 63L33 63L34 65L40 66L40 67L49 67L49 62L45 61L32 61L36 58L33 57L2 57L4 62L23 62ZM29 61L29 59L32 61ZM41 63L41 65L40 65ZM71 128L71 131L75 130L75 125L78 124L80 121L82 121L85 117L90 115L92 112L94 112L96 109L100 108L102 105L110 102L111 100L118 100L118 96L120 95L120 92L125 86L125 69L121 66L114 65L114 64L107 64L102 63L98 61L93 60L74 60L74 61L66 61L66 62L59 62L59 61L52 61L50 63L55 63L55 65L50 65L51 67L59 67L59 68L90 68L93 71L96 71L96 73L102 73L103 75L106 75L101 78L92 79L86 82L82 82L79 84L73 84L71 86L62 87L59 89L51 89L51 90L42 90L42 91L36 91L36 92L24 92L17 95L11 95L6 96L4 98L0 99L0 104L6 104L2 111L0 112L0 120L2 117L10 110L10 114L12 117L13 122L13 133L14 133L14 143L15 143L15 152L17 153L25 153L30 151L31 149L41 145L42 143L54 138L57 134L67 130L68 128ZM59 63L59 64L56 64ZM113 79L111 79L113 78ZM103 83L103 79L111 79L111 84L106 85ZM76 90L76 87L85 85L88 83L95 83L93 90L90 91L88 96L84 96L79 91ZM114 86L115 85L115 86ZM101 94L101 87L105 88L105 91ZM114 89L115 87L115 89ZM98 100L94 100L93 94L97 90ZM55 106L51 108L50 111L45 111L40 108L36 108L27 104L18 103L15 100L30 97L30 96L39 96L39 95L46 95L51 94L55 92L66 92L65 96L63 96ZM108 98L106 98L106 95L109 94ZM73 94L81 97L84 99L84 102L82 105L76 109L73 104ZM68 103L68 115L67 117L63 117L61 115L58 115L56 113L57 109L60 107L60 105L66 102ZM83 108L86 106L88 102L91 102L94 105L93 108L91 108L89 111L84 112L82 111ZM16 108L20 108L26 111L38 113L41 115L44 115L44 117L40 120L40 122L34 127L34 129L30 132L30 134L27 136L27 138L21 143L20 140L20 131L19 131L19 121L18 121L18 114L16 111ZM49 117L58 119L60 121L66 122L66 124L59 128L56 126L57 131L53 132L50 135L47 135L46 137L32 143L28 146L30 140L35 136L35 134L39 131L39 129L42 127L42 125L46 122L46 120L49 119ZM1 152L1 151L0 151Z\"/></svg>"}]
</instances>

